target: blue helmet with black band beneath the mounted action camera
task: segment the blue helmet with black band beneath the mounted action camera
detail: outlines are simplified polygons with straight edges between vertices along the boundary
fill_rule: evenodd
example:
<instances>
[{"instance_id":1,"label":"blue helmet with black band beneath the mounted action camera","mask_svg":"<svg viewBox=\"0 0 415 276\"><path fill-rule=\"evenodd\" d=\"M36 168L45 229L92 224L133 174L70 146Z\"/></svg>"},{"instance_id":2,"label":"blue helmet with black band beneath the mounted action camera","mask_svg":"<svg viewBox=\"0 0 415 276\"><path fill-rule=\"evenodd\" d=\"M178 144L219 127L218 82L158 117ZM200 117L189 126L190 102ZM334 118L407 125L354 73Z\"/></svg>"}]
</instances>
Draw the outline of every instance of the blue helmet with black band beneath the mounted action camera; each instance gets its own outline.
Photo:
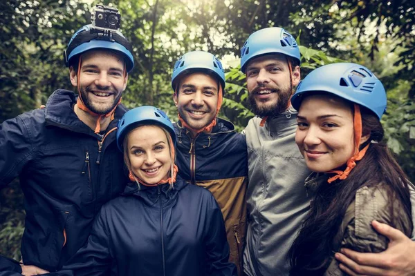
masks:
<instances>
[{"instance_id":1,"label":"blue helmet with black band beneath the mounted action camera","mask_svg":"<svg viewBox=\"0 0 415 276\"><path fill-rule=\"evenodd\" d=\"M93 26L85 25L73 34L68 43L68 48L64 51L64 61L69 67L73 61L77 60L82 53L88 50L113 50L119 52L125 60L127 72L134 67L133 48L131 43L118 30L107 32L97 32Z\"/></svg>"}]
</instances>

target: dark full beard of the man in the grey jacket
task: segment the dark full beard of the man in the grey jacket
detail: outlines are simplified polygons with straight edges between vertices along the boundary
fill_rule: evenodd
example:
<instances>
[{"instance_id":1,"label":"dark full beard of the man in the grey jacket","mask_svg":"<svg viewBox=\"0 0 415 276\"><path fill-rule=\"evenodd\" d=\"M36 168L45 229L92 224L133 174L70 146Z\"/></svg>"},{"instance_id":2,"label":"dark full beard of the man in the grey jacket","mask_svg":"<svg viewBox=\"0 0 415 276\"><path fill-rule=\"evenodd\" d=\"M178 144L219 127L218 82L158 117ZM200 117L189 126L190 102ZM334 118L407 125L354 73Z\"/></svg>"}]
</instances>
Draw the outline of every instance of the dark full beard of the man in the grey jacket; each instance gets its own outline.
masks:
<instances>
[{"instance_id":1,"label":"dark full beard of the man in the grey jacket","mask_svg":"<svg viewBox=\"0 0 415 276\"><path fill-rule=\"evenodd\" d=\"M278 94L277 101L271 105L263 104L257 105L257 101L255 100L255 94L259 92L260 88L269 88L270 90L274 90L273 93ZM279 88L271 88L268 86L257 86L252 90L252 92L248 92L248 102L250 103L252 112L259 117L273 117L285 112L290 105L290 99L293 95L293 86L290 86L286 89L279 89Z\"/></svg>"}]
</instances>

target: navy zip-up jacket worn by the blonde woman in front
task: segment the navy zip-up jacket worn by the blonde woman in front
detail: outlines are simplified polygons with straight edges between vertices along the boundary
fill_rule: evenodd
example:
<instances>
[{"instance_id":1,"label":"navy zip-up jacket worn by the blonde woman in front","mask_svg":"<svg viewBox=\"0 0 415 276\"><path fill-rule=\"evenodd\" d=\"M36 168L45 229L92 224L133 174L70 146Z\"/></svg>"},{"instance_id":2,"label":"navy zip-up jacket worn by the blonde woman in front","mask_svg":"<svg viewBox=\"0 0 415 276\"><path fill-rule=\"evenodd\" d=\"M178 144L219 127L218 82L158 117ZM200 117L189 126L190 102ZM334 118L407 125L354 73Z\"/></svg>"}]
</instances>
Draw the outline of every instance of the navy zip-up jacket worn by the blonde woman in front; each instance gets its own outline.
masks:
<instances>
[{"instance_id":1,"label":"navy zip-up jacket worn by the blonde woman in front","mask_svg":"<svg viewBox=\"0 0 415 276\"><path fill-rule=\"evenodd\" d=\"M155 187L129 184L102 206L88 244L53 275L237 275L221 209L208 190L178 177ZM71 271L70 271L71 270Z\"/></svg>"}]
</instances>

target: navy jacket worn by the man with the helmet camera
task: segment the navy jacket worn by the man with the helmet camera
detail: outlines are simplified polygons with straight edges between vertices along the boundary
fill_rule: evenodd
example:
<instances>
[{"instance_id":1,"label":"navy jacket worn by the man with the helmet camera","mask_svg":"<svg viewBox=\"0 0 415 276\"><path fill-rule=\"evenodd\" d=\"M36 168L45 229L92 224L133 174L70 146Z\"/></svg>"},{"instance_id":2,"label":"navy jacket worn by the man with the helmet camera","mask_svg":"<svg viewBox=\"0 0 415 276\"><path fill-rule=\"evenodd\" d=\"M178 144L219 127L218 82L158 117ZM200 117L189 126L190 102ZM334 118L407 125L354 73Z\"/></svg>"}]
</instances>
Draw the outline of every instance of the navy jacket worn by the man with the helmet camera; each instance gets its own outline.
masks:
<instances>
[{"instance_id":1,"label":"navy jacket worn by the man with the helmet camera","mask_svg":"<svg viewBox=\"0 0 415 276\"><path fill-rule=\"evenodd\" d=\"M127 109L118 106L101 136L78 119L75 103L73 92L57 90L45 109L0 125L0 188L19 176L25 196L24 264L49 271L85 244L101 206L127 183L114 131Z\"/></svg>"}]
</instances>

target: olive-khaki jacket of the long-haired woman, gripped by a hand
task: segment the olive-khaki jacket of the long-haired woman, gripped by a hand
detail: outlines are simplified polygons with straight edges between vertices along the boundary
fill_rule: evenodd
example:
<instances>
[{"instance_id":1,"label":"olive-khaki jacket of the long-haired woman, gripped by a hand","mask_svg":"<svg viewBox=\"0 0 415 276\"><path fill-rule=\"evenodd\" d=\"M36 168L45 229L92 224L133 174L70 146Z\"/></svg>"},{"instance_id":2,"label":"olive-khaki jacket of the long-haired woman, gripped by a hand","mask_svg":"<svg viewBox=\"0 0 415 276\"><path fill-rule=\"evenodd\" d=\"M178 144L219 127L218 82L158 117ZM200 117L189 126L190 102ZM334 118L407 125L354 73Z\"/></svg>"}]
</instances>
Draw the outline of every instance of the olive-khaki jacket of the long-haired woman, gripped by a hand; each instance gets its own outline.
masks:
<instances>
[{"instance_id":1,"label":"olive-khaki jacket of the long-haired woman, gripped by a hand","mask_svg":"<svg viewBox=\"0 0 415 276\"><path fill-rule=\"evenodd\" d=\"M372 228L371 221L374 219L411 237L412 217L407 216L399 200L394 200L393 206L390 206L388 197L390 195L386 188L382 188L382 184L366 186L356 192L355 201L347 209L342 226L340 226L344 229L340 247L362 253L380 253L386 250L389 240ZM324 275L344 274L342 274L338 262L333 259Z\"/></svg>"}]
</instances>

